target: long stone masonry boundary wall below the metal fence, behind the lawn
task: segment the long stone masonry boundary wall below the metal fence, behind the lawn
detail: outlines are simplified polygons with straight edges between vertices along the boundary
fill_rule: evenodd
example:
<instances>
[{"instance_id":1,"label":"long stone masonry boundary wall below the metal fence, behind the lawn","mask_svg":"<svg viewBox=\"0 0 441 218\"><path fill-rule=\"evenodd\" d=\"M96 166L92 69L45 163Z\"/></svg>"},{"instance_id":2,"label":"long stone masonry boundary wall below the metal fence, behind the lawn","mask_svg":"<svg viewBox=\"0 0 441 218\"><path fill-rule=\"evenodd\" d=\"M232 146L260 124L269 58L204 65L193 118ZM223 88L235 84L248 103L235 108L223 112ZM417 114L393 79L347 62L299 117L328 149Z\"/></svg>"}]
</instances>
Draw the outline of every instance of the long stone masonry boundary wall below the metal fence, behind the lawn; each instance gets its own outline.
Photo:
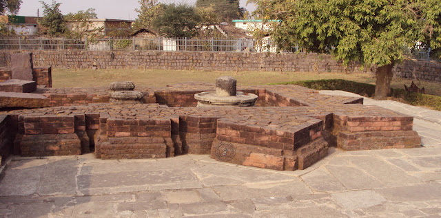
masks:
<instances>
[{"instance_id":1,"label":"long stone masonry boundary wall below the metal fence, behind the lawn","mask_svg":"<svg viewBox=\"0 0 441 218\"><path fill-rule=\"evenodd\" d=\"M0 51L0 67L10 65L10 54ZM112 56L112 53L114 56ZM370 74L353 63L344 67L326 54L267 54L238 52L157 51L33 51L34 65L81 69L196 69L225 71L349 72ZM394 69L402 78L441 82L441 63L404 60ZM0 74L1 79L1 74Z\"/></svg>"}]
</instances>

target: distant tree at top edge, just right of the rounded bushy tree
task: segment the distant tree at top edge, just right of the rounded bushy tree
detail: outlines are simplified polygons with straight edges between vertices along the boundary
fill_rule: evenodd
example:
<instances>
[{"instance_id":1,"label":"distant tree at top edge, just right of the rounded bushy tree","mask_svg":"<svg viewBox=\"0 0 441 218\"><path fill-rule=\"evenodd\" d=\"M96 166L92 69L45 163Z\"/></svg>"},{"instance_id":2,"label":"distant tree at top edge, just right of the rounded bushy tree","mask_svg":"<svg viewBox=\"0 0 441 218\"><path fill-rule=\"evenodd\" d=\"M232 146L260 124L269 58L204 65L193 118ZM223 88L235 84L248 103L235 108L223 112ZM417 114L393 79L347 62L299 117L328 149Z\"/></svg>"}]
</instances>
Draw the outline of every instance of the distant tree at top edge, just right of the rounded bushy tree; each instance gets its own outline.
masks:
<instances>
[{"instance_id":1,"label":"distant tree at top edge, just right of the rounded bushy tree","mask_svg":"<svg viewBox=\"0 0 441 218\"><path fill-rule=\"evenodd\" d=\"M239 7L239 0L197 0L196 8L212 8L218 22L231 22L243 18L245 8Z\"/></svg>"}]
</instances>

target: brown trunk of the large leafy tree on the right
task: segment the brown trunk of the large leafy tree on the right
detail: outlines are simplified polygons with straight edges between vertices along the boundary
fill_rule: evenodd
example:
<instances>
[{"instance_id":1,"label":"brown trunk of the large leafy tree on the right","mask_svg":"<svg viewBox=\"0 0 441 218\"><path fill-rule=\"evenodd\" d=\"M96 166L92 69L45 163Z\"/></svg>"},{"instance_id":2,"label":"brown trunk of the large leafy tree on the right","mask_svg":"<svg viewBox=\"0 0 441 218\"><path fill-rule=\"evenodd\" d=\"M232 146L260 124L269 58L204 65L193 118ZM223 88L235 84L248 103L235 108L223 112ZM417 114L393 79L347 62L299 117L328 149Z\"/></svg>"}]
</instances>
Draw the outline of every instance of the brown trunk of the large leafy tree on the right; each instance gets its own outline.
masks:
<instances>
[{"instance_id":1,"label":"brown trunk of the large leafy tree on the right","mask_svg":"<svg viewBox=\"0 0 441 218\"><path fill-rule=\"evenodd\" d=\"M378 67L376 71L375 99L384 99L391 95L391 80L393 77L393 62L389 65Z\"/></svg>"}]
</instances>

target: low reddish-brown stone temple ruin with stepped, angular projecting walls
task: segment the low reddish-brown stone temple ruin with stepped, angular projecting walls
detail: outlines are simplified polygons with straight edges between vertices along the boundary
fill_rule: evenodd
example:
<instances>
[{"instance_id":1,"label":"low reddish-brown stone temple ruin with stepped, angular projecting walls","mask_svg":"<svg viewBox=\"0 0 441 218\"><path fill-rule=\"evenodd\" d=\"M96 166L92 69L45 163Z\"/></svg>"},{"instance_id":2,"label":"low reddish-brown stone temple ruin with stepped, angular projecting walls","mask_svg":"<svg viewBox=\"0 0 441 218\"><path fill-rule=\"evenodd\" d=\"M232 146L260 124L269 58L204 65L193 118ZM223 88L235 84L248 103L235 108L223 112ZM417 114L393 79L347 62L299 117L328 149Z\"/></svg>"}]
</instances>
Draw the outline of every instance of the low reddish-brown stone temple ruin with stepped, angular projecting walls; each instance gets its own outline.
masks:
<instances>
[{"instance_id":1,"label":"low reddish-brown stone temple ruin with stepped, angular projecting walls","mask_svg":"<svg viewBox=\"0 0 441 218\"><path fill-rule=\"evenodd\" d=\"M0 92L1 156L94 152L96 158L120 159L192 153L295 171L327 156L329 146L354 151L421 145L411 116L362 105L363 98L327 96L296 85L237 90L234 94L235 80L220 78L216 90L209 83L150 88L119 82L110 89L39 86L26 97ZM227 104L196 107L218 105L207 91ZM223 98L232 96L238 98Z\"/></svg>"}]
</instances>

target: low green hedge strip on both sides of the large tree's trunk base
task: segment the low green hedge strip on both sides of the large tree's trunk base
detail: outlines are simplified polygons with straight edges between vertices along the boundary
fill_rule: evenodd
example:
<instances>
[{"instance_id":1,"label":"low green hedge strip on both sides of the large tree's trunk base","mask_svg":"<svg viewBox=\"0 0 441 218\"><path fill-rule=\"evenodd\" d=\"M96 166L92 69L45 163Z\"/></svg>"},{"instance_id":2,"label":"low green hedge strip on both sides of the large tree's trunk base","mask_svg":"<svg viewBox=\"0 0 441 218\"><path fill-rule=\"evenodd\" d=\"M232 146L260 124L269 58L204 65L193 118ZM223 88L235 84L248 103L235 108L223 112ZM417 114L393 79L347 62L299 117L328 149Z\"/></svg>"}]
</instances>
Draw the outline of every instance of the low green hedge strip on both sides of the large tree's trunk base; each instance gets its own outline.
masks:
<instances>
[{"instance_id":1,"label":"low green hedge strip on both sides of the large tree's trunk base","mask_svg":"<svg viewBox=\"0 0 441 218\"><path fill-rule=\"evenodd\" d=\"M302 87L308 87L316 90L342 90L367 97L372 97L373 94L375 94L375 85L342 79L305 80L276 84L300 85ZM405 102L409 105L429 107L431 109L441 111L441 96L407 92L404 89L392 89L391 96L393 100Z\"/></svg>"}]
</instances>

